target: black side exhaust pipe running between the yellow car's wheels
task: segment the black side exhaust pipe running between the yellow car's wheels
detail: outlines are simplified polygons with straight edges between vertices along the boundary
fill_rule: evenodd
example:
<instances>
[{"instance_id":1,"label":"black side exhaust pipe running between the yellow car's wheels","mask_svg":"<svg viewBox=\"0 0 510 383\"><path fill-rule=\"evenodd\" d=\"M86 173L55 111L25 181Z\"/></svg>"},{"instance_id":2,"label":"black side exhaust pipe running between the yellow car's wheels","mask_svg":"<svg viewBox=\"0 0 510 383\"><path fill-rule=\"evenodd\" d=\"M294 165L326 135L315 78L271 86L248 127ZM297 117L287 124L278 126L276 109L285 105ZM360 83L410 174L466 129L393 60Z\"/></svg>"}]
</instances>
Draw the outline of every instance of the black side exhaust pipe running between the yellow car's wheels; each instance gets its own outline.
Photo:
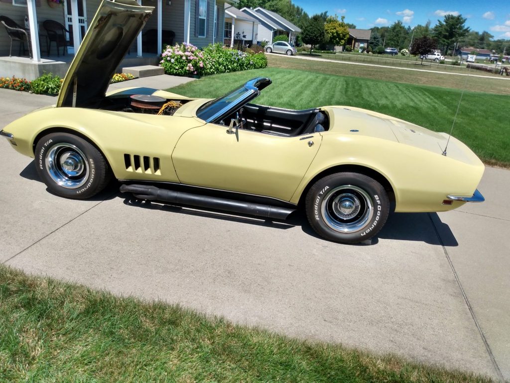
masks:
<instances>
[{"instance_id":1,"label":"black side exhaust pipe running between the yellow car's wheels","mask_svg":"<svg viewBox=\"0 0 510 383\"><path fill-rule=\"evenodd\" d=\"M263 205L259 203L229 200L219 197L202 196L199 194L176 192L147 185L121 185L122 193L133 193L141 200L158 200L176 204L205 207L209 209L232 211L250 214L251 216L285 220L295 209Z\"/></svg>"}]
</instances>

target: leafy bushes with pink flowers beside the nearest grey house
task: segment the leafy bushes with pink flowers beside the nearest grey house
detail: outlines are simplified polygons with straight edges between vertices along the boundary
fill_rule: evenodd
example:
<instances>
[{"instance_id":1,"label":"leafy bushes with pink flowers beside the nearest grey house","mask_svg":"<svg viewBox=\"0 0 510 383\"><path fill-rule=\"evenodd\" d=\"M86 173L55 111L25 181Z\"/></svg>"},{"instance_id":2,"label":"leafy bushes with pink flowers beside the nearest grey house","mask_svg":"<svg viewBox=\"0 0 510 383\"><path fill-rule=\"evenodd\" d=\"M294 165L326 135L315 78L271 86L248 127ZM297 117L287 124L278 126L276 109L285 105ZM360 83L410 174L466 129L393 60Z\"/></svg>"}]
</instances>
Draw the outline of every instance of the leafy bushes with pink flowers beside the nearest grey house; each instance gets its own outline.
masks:
<instances>
[{"instance_id":1,"label":"leafy bushes with pink flowers beside the nearest grey house","mask_svg":"<svg viewBox=\"0 0 510 383\"><path fill-rule=\"evenodd\" d=\"M167 75L214 75L267 66L264 53L241 52L210 44L200 51L192 44L168 45L161 55L160 65Z\"/></svg>"}]
</instances>

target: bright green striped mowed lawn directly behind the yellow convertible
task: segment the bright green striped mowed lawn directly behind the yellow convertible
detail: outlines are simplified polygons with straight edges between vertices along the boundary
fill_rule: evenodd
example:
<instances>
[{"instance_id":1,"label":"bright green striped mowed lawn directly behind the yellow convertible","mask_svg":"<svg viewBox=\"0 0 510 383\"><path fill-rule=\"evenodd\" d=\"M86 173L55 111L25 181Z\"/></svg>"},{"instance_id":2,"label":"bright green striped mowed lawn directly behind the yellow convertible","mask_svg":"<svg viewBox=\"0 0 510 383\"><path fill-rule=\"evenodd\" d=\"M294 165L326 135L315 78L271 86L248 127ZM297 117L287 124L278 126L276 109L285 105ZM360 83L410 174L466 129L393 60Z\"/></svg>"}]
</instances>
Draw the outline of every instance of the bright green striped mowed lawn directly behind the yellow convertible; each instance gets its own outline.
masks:
<instances>
[{"instance_id":1,"label":"bright green striped mowed lawn directly behind the yellow convertible","mask_svg":"<svg viewBox=\"0 0 510 383\"><path fill-rule=\"evenodd\" d=\"M459 89L280 68L208 76L172 88L171 91L189 97L216 98L258 76L269 77L273 83L262 91L255 103L291 109L324 105L355 106L395 116L438 132L450 132L462 94ZM509 105L510 97L507 95L465 91L453 136L465 142L483 161L508 166Z\"/></svg>"}]
</instances>

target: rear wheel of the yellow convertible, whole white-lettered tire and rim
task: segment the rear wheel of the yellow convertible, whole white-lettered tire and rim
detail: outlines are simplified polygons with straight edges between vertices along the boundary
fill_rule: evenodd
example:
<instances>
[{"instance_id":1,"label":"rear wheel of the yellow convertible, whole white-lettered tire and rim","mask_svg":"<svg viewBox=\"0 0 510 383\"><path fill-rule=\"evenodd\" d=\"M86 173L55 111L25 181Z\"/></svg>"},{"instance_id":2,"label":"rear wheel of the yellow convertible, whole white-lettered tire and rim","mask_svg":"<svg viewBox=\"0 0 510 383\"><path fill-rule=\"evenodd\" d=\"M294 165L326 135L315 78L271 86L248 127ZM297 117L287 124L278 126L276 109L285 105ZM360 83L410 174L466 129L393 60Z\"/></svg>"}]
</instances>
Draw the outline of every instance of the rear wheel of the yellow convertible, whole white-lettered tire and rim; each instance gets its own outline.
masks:
<instances>
[{"instance_id":1,"label":"rear wheel of the yellow convertible, whole white-lettered tire and rim","mask_svg":"<svg viewBox=\"0 0 510 383\"><path fill-rule=\"evenodd\" d=\"M310 188L305 209L317 234L330 241L355 244L368 240L384 226L390 200L374 179L358 173L336 173Z\"/></svg>"}]
</instances>

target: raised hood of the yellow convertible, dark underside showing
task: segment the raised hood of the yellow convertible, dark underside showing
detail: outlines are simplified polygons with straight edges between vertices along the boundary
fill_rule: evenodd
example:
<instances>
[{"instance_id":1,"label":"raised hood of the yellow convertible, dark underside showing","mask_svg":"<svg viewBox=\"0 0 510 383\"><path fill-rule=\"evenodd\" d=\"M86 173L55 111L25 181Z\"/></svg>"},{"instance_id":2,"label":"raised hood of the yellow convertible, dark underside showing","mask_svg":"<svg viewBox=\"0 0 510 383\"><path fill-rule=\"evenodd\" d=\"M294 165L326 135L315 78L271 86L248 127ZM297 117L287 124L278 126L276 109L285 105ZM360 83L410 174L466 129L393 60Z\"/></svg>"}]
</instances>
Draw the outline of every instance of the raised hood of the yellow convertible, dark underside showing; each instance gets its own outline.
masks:
<instances>
[{"instance_id":1,"label":"raised hood of the yellow convertible, dark underside showing","mask_svg":"<svg viewBox=\"0 0 510 383\"><path fill-rule=\"evenodd\" d=\"M135 0L101 2L67 71L57 107L86 107L104 97L115 68L152 10Z\"/></svg>"}]
</instances>

